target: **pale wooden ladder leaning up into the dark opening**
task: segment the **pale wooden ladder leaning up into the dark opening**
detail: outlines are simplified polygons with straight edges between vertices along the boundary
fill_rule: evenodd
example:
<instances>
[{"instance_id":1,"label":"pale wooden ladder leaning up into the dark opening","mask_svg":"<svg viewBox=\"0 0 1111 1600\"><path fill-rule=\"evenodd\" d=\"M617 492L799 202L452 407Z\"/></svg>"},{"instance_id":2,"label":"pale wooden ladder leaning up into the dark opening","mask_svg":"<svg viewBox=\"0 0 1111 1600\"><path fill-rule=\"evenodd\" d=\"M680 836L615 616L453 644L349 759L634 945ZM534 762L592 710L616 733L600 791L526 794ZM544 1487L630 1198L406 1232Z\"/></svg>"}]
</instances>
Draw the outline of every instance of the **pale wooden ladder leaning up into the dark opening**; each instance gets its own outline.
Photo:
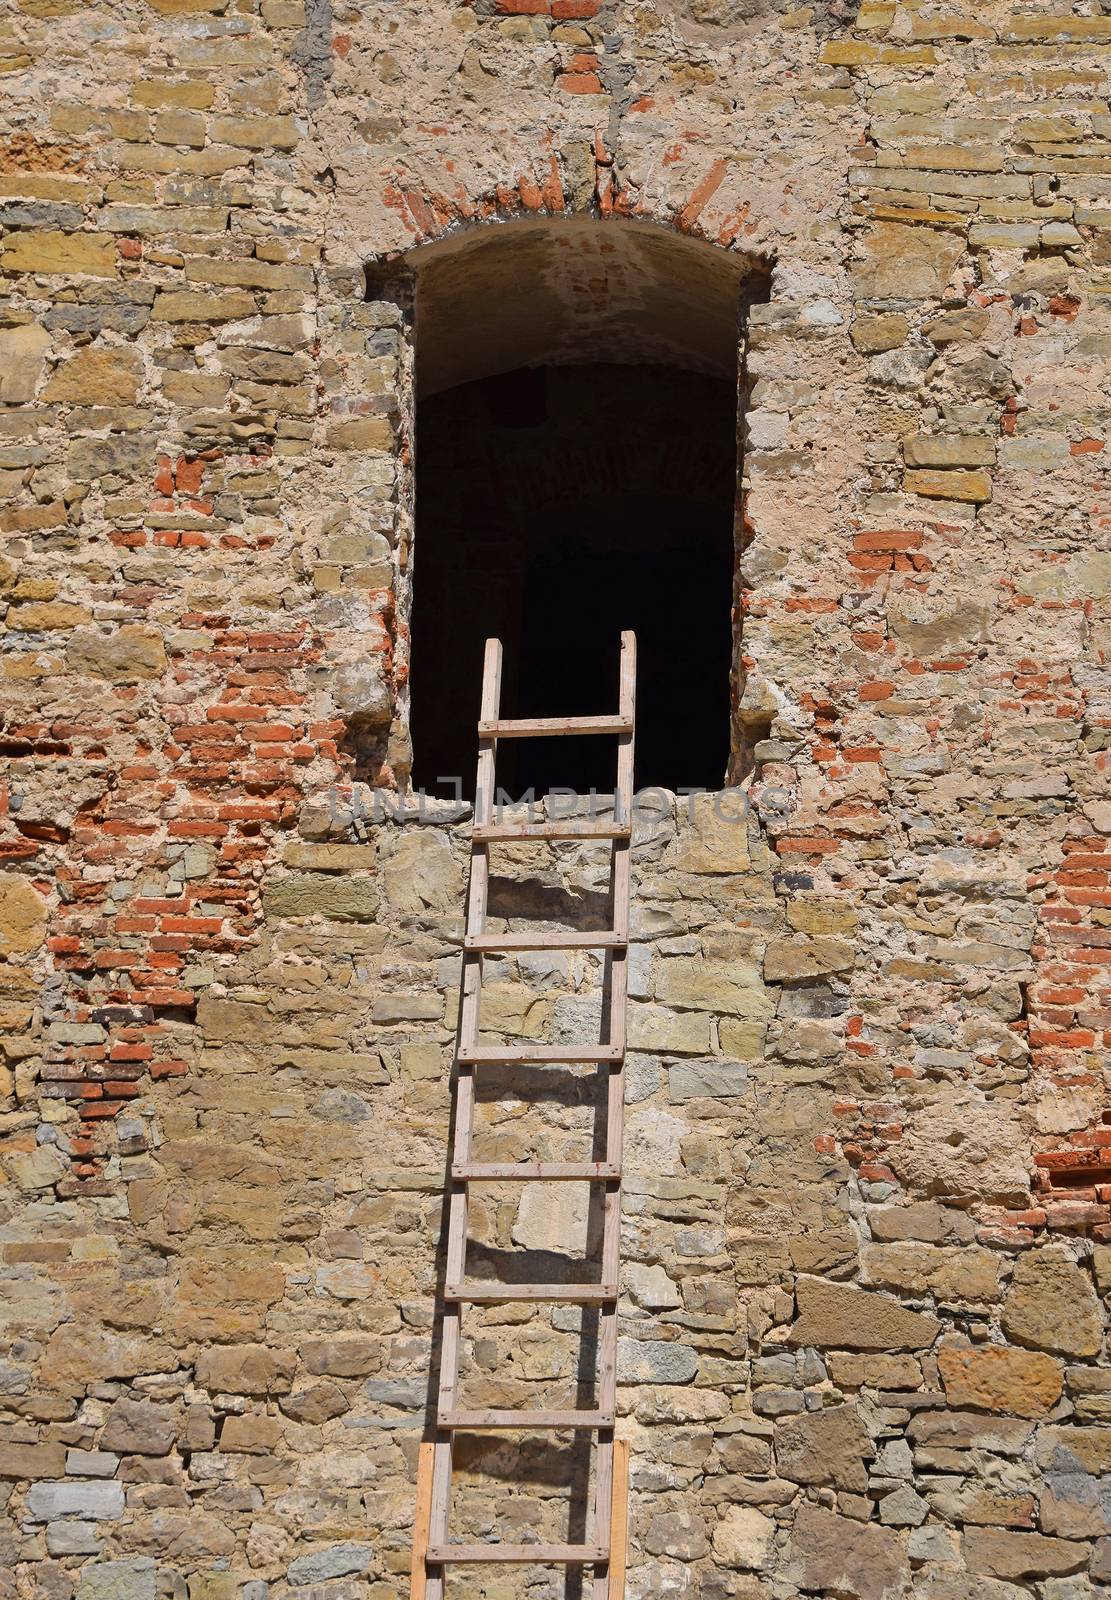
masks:
<instances>
[{"instance_id":1,"label":"pale wooden ladder leaning up into the dark opening","mask_svg":"<svg viewBox=\"0 0 1111 1600\"><path fill-rule=\"evenodd\" d=\"M624 1043L629 987L629 869L632 850L632 741L636 725L636 637L621 634L621 682L616 717L533 717L514 722L498 715L501 702L501 643L487 640L479 720L479 776L471 834L471 893L463 941L459 1038L455 1075L455 1142L447 1235L447 1285L440 1314L440 1389L435 1437L423 1442L418 1461L413 1530L411 1600L443 1600L451 1565L515 1562L536 1566L591 1566L592 1600L623 1600L629 1454L613 1437L618 1355L618 1275L621 1259L621 1146L624 1133ZM498 739L568 734L616 734L616 792L613 818L568 818L544 822L495 821L495 758ZM604 933L487 933L490 845L498 840L600 838L612 845L613 926ZM483 1046L479 1037L482 957L507 950L605 952L608 1008L597 1045ZM605 1157L600 1162L482 1163L471 1160L474 1131L474 1074L487 1062L596 1062L607 1072ZM602 1275L597 1283L467 1282L467 1184L472 1182L586 1182L604 1186ZM594 1411L466 1411L459 1408L459 1344L463 1309L506 1301L599 1307L597 1410ZM573 1429L597 1435L594 1526L591 1544L450 1544L451 1443L469 1429Z\"/></svg>"}]
</instances>

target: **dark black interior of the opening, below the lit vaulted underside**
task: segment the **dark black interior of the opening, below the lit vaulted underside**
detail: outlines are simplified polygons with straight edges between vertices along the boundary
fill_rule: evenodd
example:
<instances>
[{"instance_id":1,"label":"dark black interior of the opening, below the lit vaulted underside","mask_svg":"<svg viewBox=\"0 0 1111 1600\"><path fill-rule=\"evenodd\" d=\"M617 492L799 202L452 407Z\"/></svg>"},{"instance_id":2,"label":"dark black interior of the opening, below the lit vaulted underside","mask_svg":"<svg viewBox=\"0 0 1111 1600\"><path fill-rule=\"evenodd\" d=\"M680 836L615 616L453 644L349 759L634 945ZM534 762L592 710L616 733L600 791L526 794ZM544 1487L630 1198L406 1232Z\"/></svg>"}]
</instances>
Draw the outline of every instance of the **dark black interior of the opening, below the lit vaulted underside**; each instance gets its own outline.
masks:
<instances>
[{"instance_id":1,"label":"dark black interior of the opening, below the lit vaulted underside","mask_svg":"<svg viewBox=\"0 0 1111 1600\"><path fill-rule=\"evenodd\" d=\"M720 787L730 757L736 386L666 365L530 366L416 421L413 782L474 786L482 648L503 715L612 712L637 634L637 787ZM511 741L503 786L613 789L613 742Z\"/></svg>"}]
</instances>

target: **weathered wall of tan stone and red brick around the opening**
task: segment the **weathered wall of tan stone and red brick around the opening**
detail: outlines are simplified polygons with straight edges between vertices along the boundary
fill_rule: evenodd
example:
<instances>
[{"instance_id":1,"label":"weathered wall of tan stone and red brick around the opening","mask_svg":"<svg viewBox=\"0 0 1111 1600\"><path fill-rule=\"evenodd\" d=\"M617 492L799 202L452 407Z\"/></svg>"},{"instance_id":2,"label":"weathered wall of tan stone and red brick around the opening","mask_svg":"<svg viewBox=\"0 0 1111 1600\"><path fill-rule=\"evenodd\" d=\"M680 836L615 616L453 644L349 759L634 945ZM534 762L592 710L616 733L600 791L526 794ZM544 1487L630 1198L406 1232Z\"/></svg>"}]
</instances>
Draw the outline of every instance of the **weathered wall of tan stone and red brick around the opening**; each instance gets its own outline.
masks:
<instances>
[{"instance_id":1,"label":"weathered wall of tan stone and red brick around the opening","mask_svg":"<svg viewBox=\"0 0 1111 1600\"><path fill-rule=\"evenodd\" d=\"M636 851L629 1594L1111 1581L1109 48L1087 0L13 0L5 1592L405 1592L467 843L351 787L411 758L405 253L572 214L772 270L746 824ZM501 874L599 914L575 848ZM596 976L488 1018L575 1037ZM586 1131L523 1088L488 1149ZM573 1331L477 1314L472 1392ZM458 1525L570 1475L479 1440Z\"/></svg>"}]
</instances>

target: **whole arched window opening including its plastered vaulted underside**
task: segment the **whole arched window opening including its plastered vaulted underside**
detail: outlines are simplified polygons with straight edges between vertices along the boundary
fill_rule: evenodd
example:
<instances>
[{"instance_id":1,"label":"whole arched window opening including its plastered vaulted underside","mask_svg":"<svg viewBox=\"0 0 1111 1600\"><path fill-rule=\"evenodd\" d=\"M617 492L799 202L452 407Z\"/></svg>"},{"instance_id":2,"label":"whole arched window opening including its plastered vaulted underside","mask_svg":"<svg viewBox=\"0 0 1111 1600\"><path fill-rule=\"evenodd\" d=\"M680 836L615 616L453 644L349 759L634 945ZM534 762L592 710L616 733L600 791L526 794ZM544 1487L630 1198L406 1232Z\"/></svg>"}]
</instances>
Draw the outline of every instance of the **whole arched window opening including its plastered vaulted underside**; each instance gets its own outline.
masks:
<instances>
[{"instance_id":1,"label":"whole arched window opening including its plastered vaulted underside","mask_svg":"<svg viewBox=\"0 0 1111 1600\"><path fill-rule=\"evenodd\" d=\"M471 792L483 640L503 714L616 704L639 787L735 770L738 349L751 262L647 224L515 222L416 251L413 782ZM743 395L743 382L740 384ZM504 786L610 790L608 741L512 741Z\"/></svg>"}]
</instances>

